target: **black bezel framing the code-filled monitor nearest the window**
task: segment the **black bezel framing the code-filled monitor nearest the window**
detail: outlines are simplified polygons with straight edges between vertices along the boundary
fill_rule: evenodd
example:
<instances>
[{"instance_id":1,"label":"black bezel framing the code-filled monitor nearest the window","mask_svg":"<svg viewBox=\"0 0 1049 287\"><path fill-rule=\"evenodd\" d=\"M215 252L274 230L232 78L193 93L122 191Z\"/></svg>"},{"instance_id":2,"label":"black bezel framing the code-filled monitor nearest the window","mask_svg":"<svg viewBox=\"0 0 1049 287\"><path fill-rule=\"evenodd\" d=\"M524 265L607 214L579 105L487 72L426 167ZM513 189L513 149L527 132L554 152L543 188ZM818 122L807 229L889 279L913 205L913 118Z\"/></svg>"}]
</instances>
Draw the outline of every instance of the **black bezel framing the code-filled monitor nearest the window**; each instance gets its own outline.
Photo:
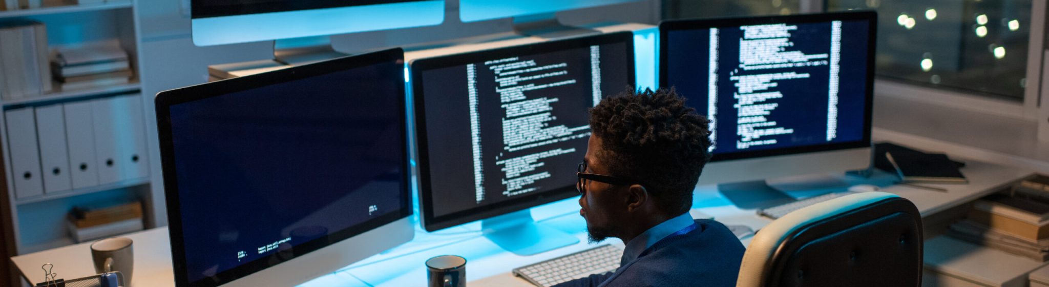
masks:
<instances>
[{"instance_id":1,"label":"black bezel framing the code-filled monitor nearest the window","mask_svg":"<svg viewBox=\"0 0 1049 287\"><path fill-rule=\"evenodd\" d=\"M734 151L727 153L716 153L710 158L710 162L745 160L776 156L788 156L798 153L811 153L821 151L843 150L852 148L871 147L871 128L874 106L874 56L878 27L878 15L873 11L840 12L827 14L802 14L789 16L767 16L767 17L733 17L715 19L688 19L688 20L667 20L659 24L659 85L667 87L667 55L668 34L675 30L703 29L711 27L733 27L743 25L776 24L776 23L815 23L829 21L868 21L868 47L866 47L866 86L863 115L863 138L857 141L839 142L831 144L817 144L805 146L792 146L785 148L769 148L749 151Z\"/></svg>"}]
</instances>

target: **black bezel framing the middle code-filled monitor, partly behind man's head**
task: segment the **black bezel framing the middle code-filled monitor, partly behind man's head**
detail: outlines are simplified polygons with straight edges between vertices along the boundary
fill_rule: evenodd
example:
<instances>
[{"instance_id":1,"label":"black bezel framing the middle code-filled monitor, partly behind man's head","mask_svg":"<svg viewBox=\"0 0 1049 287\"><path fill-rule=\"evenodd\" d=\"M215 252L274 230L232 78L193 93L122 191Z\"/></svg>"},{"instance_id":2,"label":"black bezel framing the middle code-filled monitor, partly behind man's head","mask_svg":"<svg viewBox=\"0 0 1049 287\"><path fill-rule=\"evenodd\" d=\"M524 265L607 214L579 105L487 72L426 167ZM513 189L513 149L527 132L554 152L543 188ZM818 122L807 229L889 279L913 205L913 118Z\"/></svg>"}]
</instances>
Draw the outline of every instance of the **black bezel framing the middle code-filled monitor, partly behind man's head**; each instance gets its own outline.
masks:
<instances>
[{"instance_id":1,"label":"black bezel framing the middle code-filled monitor, partly behind man's head","mask_svg":"<svg viewBox=\"0 0 1049 287\"><path fill-rule=\"evenodd\" d=\"M552 203L572 197L579 196L575 184L561 188L556 188L545 192L536 192L527 197L508 200L505 202L478 206L467 210L459 210L449 214L434 217L433 194L430 185L429 173L429 148L426 131L426 95L423 88L423 74L427 70L466 65L470 63L483 62L492 59L513 57L518 55L534 55L551 53L565 49L582 48L592 45L622 43L626 48L627 62L627 84L633 86L636 81L635 55L634 55L634 34L630 32L608 33L596 36L576 37L549 42L538 42L480 52L471 52L434 58L420 59L411 62L412 98L414 99L415 111L415 144L416 163L419 167L419 194L420 209L423 228L426 231L436 231L440 229L456 226L464 223L474 222L496 216L501 216L514 211L528 209L534 206ZM607 95L606 95L607 96ZM581 160L581 158L580 158Z\"/></svg>"}]
</instances>

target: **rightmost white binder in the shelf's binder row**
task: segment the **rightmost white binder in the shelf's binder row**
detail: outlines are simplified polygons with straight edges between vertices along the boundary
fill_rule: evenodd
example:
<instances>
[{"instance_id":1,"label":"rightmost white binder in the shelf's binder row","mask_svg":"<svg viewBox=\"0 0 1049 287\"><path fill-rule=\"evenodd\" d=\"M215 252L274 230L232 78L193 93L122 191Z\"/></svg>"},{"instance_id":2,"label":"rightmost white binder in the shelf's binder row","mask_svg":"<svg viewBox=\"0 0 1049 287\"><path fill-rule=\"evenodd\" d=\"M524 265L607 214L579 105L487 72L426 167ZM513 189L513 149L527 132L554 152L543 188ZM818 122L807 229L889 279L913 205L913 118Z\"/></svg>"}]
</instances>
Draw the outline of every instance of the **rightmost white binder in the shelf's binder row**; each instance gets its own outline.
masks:
<instances>
[{"instance_id":1,"label":"rightmost white binder in the shelf's binder row","mask_svg":"<svg viewBox=\"0 0 1049 287\"><path fill-rule=\"evenodd\" d=\"M146 156L146 122L143 116L140 95L115 98L116 105L124 110L116 112L121 137L117 143L122 178L125 180L149 177L149 161Z\"/></svg>"}]
</instances>

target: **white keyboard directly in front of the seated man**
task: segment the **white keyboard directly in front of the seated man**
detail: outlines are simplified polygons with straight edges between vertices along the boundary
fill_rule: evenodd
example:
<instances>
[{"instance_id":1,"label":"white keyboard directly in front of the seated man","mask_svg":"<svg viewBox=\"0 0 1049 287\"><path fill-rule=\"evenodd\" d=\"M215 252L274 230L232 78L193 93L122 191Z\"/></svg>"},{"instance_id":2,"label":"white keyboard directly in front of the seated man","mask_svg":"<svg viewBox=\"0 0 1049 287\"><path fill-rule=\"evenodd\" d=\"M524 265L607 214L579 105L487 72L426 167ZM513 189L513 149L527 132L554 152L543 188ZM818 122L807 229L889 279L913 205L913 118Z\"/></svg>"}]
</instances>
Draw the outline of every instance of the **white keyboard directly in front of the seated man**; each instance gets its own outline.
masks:
<instances>
[{"instance_id":1,"label":"white keyboard directly in front of the seated man","mask_svg":"<svg viewBox=\"0 0 1049 287\"><path fill-rule=\"evenodd\" d=\"M547 287L572 280L614 272L619 268L623 249L601 245L572 254L514 269L514 275L528 280L535 286Z\"/></svg>"}]
</instances>

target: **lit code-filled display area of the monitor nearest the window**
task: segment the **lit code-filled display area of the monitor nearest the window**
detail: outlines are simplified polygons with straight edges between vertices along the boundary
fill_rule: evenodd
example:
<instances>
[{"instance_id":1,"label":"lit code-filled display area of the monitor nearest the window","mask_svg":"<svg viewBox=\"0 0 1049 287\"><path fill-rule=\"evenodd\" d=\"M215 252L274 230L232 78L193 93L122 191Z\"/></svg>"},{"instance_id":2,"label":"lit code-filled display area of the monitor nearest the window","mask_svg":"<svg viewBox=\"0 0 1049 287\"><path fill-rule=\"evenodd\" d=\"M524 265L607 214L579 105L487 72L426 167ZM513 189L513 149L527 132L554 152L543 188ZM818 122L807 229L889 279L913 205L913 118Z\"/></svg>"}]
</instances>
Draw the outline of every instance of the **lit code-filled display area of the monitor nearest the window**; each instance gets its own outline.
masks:
<instances>
[{"instance_id":1,"label":"lit code-filled display area of the monitor nearest the window","mask_svg":"<svg viewBox=\"0 0 1049 287\"><path fill-rule=\"evenodd\" d=\"M872 25L806 20L672 28L660 42L661 78L705 112L716 160L862 145L870 136Z\"/></svg>"}]
</instances>

